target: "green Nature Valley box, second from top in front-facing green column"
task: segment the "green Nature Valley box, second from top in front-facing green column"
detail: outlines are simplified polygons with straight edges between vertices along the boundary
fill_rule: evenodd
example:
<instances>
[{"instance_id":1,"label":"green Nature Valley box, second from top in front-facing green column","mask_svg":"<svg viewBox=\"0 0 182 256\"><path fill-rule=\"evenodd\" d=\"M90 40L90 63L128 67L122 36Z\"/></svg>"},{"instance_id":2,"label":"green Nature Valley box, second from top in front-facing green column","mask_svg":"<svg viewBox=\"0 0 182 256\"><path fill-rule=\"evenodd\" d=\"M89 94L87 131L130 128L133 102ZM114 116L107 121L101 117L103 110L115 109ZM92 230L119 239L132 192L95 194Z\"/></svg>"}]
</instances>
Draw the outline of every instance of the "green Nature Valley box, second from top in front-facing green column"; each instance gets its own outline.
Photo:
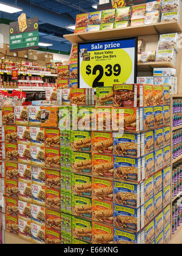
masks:
<instances>
[{"instance_id":1,"label":"green Nature Valley box, second from top in front-facing green column","mask_svg":"<svg viewBox=\"0 0 182 256\"><path fill-rule=\"evenodd\" d=\"M72 151L91 152L91 132L72 130L71 136Z\"/></svg>"}]
</instances>

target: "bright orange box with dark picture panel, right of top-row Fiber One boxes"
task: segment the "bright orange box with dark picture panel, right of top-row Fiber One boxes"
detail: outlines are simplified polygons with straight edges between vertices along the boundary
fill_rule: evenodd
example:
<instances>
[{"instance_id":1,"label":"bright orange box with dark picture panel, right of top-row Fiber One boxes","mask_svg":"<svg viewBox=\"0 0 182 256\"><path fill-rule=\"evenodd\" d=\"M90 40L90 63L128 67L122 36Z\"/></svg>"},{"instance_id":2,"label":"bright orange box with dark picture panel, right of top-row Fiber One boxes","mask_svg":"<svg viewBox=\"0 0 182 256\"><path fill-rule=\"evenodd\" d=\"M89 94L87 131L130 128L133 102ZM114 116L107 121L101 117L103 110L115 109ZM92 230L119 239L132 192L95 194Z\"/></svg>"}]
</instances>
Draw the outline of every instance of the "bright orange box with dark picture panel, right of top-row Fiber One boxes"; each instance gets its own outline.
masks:
<instances>
[{"instance_id":1,"label":"bright orange box with dark picture panel, right of top-row Fiber One boxes","mask_svg":"<svg viewBox=\"0 0 182 256\"><path fill-rule=\"evenodd\" d=\"M41 126L58 127L59 107L41 107Z\"/></svg>"}]
</instances>

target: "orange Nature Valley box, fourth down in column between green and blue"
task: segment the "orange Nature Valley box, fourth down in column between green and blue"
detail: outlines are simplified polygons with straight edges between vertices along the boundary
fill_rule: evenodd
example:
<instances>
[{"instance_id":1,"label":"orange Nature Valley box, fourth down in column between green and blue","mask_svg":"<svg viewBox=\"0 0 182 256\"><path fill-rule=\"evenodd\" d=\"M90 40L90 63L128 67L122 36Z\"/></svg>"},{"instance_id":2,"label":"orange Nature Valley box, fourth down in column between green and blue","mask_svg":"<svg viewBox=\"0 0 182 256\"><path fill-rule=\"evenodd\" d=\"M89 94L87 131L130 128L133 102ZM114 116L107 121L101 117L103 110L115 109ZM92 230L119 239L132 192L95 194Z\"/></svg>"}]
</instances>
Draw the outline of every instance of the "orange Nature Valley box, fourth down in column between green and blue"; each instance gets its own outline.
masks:
<instances>
[{"instance_id":1,"label":"orange Nature Valley box, fourth down in column between green and blue","mask_svg":"<svg viewBox=\"0 0 182 256\"><path fill-rule=\"evenodd\" d=\"M92 198L113 202L113 181L92 177Z\"/></svg>"}]
</instances>

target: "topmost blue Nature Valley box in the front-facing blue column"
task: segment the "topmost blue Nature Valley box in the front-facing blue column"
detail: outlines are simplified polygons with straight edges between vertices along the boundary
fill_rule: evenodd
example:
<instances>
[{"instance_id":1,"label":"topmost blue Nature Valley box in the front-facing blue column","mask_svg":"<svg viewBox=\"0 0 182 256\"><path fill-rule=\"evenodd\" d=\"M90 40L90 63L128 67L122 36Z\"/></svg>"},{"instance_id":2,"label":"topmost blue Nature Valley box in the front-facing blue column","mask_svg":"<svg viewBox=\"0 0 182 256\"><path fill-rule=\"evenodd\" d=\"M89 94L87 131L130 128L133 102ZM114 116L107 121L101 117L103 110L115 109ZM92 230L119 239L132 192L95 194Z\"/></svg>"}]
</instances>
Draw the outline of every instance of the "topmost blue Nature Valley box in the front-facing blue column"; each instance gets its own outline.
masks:
<instances>
[{"instance_id":1,"label":"topmost blue Nature Valley box in the front-facing blue column","mask_svg":"<svg viewBox=\"0 0 182 256\"><path fill-rule=\"evenodd\" d=\"M115 155L140 157L140 135L132 133L114 133L113 148Z\"/></svg>"}]
</instances>

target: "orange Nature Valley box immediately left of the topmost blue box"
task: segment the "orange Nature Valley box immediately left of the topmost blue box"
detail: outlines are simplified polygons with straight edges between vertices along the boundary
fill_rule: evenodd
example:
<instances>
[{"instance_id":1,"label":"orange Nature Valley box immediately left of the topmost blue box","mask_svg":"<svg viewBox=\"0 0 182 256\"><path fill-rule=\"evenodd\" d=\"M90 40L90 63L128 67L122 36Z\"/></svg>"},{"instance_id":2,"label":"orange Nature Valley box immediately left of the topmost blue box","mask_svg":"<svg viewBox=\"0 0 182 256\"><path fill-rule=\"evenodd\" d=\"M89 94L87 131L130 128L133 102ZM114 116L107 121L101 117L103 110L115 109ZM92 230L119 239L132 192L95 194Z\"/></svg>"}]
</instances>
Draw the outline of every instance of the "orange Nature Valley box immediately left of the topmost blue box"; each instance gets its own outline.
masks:
<instances>
[{"instance_id":1,"label":"orange Nature Valley box immediately left of the topmost blue box","mask_svg":"<svg viewBox=\"0 0 182 256\"><path fill-rule=\"evenodd\" d=\"M99 154L113 154L113 133L92 132L92 152Z\"/></svg>"}]
</instances>

